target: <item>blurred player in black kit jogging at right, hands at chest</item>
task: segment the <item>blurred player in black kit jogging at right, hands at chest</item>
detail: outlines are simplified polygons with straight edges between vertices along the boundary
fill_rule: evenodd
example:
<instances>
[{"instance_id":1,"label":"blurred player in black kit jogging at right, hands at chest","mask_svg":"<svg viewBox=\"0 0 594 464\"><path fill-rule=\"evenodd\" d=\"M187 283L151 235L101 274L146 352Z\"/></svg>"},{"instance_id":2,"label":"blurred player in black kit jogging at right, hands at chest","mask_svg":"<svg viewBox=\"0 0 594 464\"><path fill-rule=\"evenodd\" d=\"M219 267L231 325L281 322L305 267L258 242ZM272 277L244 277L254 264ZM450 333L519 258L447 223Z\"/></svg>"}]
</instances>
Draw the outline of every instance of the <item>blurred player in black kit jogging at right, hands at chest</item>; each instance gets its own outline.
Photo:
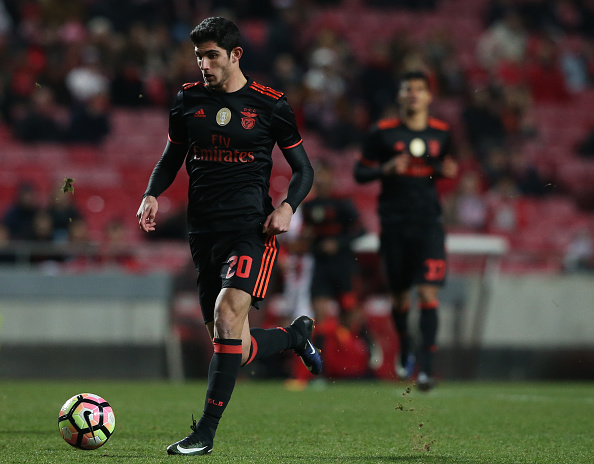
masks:
<instances>
[{"instance_id":1,"label":"blurred player in black kit jogging at right, hands at chest","mask_svg":"<svg viewBox=\"0 0 594 464\"><path fill-rule=\"evenodd\" d=\"M449 155L447 123L429 115L432 94L422 72L400 80L400 117L380 120L367 134L355 165L358 182L380 180L380 254L388 279L392 317L400 343L397 373L414 369L408 330L410 291L416 287L421 343L417 386L433 388L433 357L438 328L438 292L446 275L445 234L435 187L438 177L454 178L458 166Z\"/></svg>"}]
</instances>

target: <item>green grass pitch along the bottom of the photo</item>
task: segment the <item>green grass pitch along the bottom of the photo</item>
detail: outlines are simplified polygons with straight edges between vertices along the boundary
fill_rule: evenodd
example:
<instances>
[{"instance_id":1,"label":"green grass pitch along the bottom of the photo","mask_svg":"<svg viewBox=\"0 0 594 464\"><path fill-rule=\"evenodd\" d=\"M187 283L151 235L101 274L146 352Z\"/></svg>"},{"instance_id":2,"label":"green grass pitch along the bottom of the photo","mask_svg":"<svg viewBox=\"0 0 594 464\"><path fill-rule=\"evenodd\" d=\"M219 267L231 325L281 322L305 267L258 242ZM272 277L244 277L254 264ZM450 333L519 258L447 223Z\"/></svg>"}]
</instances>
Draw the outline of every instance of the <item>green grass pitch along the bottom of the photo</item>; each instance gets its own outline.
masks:
<instances>
[{"instance_id":1,"label":"green grass pitch along the bottom of the photo","mask_svg":"<svg viewBox=\"0 0 594 464\"><path fill-rule=\"evenodd\" d=\"M293 392L239 381L211 456L167 456L190 432L204 382L0 381L0 463L592 464L594 384L329 382ZM58 411L91 392L116 429L95 451L58 432Z\"/></svg>"}]
</instances>

